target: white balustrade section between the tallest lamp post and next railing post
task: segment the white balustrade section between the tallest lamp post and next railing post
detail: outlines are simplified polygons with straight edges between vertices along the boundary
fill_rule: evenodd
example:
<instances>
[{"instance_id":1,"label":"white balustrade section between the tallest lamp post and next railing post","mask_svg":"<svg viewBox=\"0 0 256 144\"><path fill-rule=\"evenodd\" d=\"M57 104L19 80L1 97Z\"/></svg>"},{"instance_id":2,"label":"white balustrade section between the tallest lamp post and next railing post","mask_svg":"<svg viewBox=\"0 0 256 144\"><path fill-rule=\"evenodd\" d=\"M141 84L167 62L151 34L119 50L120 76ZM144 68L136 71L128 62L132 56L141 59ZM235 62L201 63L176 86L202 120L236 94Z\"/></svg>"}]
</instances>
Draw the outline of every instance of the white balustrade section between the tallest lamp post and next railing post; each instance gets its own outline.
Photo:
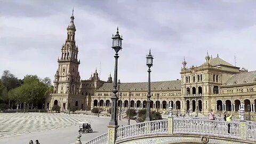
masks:
<instances>
[{"instance_id":1,"label":"white balustrade section between the tallest lamp post and next railing post","mask_svg":"<svg viewBox=\"0 0 256 144\"><path fill-rule=\"evenodd\" d=\"M167 134L167 127L167 119L120 127L117 129L116 141L143 135Z\"/></svg>"}]
</instances>

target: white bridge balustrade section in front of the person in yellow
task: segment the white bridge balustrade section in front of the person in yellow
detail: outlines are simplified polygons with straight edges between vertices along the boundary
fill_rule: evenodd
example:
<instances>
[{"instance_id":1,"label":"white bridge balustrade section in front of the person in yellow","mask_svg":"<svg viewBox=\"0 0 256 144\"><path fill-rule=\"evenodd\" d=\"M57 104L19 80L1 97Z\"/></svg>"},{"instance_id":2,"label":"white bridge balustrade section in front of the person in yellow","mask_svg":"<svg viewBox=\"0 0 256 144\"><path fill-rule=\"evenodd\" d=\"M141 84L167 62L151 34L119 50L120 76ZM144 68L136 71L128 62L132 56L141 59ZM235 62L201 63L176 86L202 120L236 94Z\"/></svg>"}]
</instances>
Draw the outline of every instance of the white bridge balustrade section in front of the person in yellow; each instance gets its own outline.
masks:
<instances>
[{"instance_id":1,"label":"white bridge balustrade section in front of the person in yellow","mask_svg":"<svg viewBox=\"0 0 256 144\"><path fill-rule=\"evenodd\" d=\"M228 133L228 125L230 125L230 133ZM204 134L215 137L239 138L239 127L237 122L194 118L173 119L174 134Z\"/></svg>"}]
</instances>

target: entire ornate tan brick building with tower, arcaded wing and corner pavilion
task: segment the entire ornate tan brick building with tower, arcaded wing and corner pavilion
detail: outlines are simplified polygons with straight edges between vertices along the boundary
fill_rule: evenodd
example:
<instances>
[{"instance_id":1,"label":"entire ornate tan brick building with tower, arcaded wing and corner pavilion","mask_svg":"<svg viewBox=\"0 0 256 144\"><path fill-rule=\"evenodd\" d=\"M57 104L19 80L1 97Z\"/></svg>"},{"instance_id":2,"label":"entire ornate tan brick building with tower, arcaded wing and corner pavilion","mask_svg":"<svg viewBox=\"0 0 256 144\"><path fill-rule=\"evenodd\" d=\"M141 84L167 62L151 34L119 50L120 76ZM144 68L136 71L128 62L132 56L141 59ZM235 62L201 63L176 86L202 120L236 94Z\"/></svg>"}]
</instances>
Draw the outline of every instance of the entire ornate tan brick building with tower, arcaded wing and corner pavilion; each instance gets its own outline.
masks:
<instances>
[{"instance_id":1,"label":"entire ornate tan brick building with tower, arcaded wing and corner pavilion","mask_svg":"<svg viewBox=\"0 0 256 144\"><path fill-rule=\"evenodd\" d=\"M89 79L80 78L74 16L70 19L66 43L62 45L59 67L53 81L54 91L46 98L45 106L51 109L53 105L59 105L64 110L70 106L82 110L93 107L107 110L111 107L113 94L111 75L107 81L101 81L95 70ZM252 112L252 118L256 116L256 71L240 69L222 60L219 55L212 58L207 53L205 62L198 67L187 68L184 58L180 74L181 80L151 82L152 110L166 113L171 105L179 114L189 109L207 114L213 109L218 113L232 111L238 115L239 105L245 105L245 110ZM130 97L131 108L146 108L147 82L121 83L118 95L118 107L127 108Z\"/></svg>"}]
</instances>

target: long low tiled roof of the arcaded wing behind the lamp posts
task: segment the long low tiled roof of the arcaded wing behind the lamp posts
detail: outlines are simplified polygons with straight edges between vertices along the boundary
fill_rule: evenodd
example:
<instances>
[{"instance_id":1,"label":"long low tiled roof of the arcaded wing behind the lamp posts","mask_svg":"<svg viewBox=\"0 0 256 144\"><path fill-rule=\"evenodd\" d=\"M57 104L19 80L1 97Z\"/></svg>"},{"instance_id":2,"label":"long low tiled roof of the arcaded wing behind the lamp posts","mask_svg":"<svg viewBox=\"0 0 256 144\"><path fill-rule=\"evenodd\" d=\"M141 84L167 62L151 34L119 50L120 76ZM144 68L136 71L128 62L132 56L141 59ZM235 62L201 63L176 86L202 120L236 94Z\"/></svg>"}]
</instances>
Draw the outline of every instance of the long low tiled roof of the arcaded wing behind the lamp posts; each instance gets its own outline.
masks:
<instances>
[{"instance_id":1,"label":"long low tiled roof of the arcaded wing behind the lamp posts","mask_svg":"<svg viewBox=\"0 0 256 144\"><path fill-rule=\"evenodd\" d=\"M181 81L162 81L162 82L151 82L151 90L181 90ZM98 91L112 91L113 83L104 83ZM120 91L147 91L148 83L121 83Z\"/></svg>"}]
</instances>

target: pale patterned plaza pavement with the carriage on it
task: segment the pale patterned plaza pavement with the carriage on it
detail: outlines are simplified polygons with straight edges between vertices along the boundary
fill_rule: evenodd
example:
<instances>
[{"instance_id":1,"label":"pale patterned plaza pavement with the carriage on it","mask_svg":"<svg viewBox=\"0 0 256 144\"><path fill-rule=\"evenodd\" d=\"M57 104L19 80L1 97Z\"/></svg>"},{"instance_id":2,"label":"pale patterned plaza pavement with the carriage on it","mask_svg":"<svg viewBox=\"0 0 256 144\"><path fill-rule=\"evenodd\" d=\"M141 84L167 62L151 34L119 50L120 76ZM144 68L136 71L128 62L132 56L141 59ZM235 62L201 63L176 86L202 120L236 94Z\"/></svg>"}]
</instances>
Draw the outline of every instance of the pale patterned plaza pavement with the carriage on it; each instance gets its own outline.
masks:
<instances>
[{"instance_id":1,"label":"pale patterned plaza pavement with the carriage on it","mask_svg":"<svg viewBox=\"0 0 256 144\"><path fill-rule=\"evenodd\" d=\"M93 133L83 133L83 143L107 133L110 117L55 113L0 113L0 143L21 144L39 140L41 144L75 143L79 122L89 121ZM131 124L135 124L131 121ZM127 119L118 121L127 125Z\"/></svg>"}]
</instances>

